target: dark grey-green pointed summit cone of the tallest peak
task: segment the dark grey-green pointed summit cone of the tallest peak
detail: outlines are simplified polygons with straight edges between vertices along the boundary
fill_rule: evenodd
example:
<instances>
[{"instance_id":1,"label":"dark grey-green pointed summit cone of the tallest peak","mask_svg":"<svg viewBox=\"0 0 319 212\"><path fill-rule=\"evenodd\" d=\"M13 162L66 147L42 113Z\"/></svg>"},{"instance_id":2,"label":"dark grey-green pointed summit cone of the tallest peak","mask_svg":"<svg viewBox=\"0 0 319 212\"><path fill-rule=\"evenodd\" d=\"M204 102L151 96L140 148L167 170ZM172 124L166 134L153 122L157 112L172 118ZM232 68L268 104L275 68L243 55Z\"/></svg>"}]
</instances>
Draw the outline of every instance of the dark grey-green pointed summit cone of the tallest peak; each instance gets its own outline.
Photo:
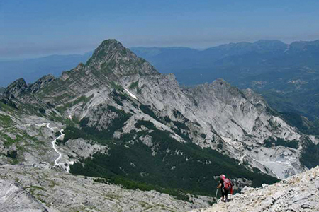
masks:
<instances>
[{"instance_id":1,"label":"dark grey-green pointed summit cone of the tallest peak","mask_svg":"<svg viewBox=\"0 0 319 212\"><path fill-rule=\"evenodd\" d=\"M86 66L108 75L159 74L145 59L136 56L117 40L104 40L94 51Z\"/></svg>"}]
</instances>

